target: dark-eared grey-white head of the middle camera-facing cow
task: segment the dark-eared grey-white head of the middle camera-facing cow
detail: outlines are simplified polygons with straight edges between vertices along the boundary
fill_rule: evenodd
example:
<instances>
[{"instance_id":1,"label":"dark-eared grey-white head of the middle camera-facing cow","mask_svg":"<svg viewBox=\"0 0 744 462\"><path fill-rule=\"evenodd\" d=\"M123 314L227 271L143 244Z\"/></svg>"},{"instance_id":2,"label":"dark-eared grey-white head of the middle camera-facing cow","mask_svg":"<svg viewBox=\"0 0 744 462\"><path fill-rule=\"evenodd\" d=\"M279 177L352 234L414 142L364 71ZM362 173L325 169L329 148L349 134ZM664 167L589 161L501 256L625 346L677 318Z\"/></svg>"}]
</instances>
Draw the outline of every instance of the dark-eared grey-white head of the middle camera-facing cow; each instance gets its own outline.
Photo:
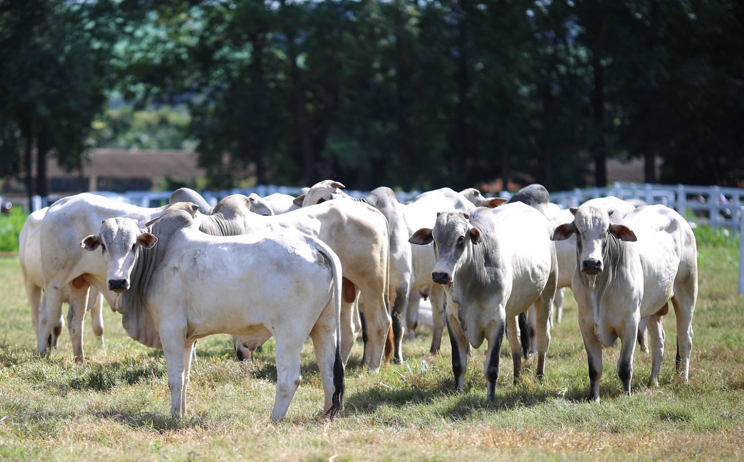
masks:
<instances>
[{"instance_id":1,"label":"dark-eared grey-white head of the middle camera-facing cow","mask_svg":"<svg viewBox=\"0 0 744 462\"><path fill-rule=\"evenodd\" d=\"M411 244L420 245L434 241L437 263L432 271L433 282L452 283L469 245L481 242L481 231L470 224L469 218L470 215L463 212L439 212L434 228L422 228L408 239Z\"/></svg>"}]
</instances>

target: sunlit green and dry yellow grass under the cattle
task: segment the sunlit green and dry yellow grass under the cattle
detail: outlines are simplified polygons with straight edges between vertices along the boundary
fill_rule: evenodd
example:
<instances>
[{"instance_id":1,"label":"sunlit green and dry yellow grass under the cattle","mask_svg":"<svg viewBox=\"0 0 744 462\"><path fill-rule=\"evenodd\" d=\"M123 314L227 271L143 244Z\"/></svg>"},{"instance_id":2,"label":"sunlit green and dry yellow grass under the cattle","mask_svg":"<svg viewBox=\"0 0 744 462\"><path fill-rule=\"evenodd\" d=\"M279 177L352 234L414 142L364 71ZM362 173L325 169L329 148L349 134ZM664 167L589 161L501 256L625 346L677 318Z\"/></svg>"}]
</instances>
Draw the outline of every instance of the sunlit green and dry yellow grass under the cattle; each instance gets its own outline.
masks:
<instances>
[{"instance_id":1,"label":"sunlit green and dry yellow grass under the cattle","mask_svg":"<svg viewBox=\"0 0 744 462\"><path fill-rule=\"evenodd\" d=\"M106 348L86 319L85 364L72 362L68 334L57 354L36 355L18 258L0 258L0 458L33 460L638 460L740 459L744 456L744 299L737 293L737 247L699 247L700 293L690 383L674 372L676 329L664 320L661 385L648 388L650 356L638 349L632 395L615 372L619 348L604 355L602 403L586 403L586 353L567 296L552 333L545 380L528 370L512 385L502 353L496 401L487 402L483 351L452 391L449 339L428 354L420 328L404 343L407 362L379 374L347 368L340 417L321 417L322 388L310 344L303 383L286 419L269 423L276 369L272 341L250 363L234 359L228 336L199 341L187 417L170 418L161 352L129 339L118 313L105 313ZM66 313L66 308L65 308ZM508 348L504 348L507 350ZM527 368L535 365L534 358Z\"/></svg>"}]
</instances>

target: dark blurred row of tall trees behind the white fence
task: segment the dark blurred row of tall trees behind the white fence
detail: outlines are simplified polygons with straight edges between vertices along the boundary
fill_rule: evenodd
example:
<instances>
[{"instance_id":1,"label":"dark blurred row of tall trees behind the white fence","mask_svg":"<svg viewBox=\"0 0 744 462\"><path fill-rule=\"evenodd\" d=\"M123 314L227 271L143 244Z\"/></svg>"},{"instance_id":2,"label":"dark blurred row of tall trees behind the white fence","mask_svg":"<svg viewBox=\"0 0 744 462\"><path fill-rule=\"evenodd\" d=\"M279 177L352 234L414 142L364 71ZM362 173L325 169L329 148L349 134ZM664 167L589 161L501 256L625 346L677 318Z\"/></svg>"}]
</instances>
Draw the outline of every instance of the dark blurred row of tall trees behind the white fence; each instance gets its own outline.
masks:
<instances>
[{"instance_id":1,"label":"dark blurred row of tall trees behind the white fence","mask_svg":"<svg viewBox=\"0 0 744 462\"><path fill-rule=\"evenodd\" d=\"M118 91L187 105L217 188L250 167L257 183L566 189L592 170L604 185L608 157L644 158L649 182L744 179L739 0L0 6L6 174L33 152L82 165Z\"/></svg>"}]
</instances>

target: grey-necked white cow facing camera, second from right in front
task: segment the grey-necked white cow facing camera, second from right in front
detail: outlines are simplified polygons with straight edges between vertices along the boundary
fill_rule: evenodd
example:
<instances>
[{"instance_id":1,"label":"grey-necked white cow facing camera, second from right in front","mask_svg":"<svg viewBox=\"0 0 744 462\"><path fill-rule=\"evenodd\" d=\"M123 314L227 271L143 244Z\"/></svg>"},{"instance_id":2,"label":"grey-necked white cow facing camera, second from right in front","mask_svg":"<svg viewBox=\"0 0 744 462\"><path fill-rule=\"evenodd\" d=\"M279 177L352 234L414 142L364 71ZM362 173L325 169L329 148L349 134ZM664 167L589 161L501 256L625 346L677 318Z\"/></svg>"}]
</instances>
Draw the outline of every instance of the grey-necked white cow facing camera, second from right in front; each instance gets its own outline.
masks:
<instances>
[{"instance_id":1,"label":"grey-necked white cow facing camera, second from right in front","mask_svg":"<svg viewBox=\"0 0 744 462\"><path fill-rule=\"evenodd\" d=\"M504 330L517 380L522 371L522 345L516 318L530 305L535 305L537 313L536 376L542 379L557 281L550 235L544 215L516 203L496 209L478 207L469 214L442 212L433 229L423 228L411 236L412 244L434 241L436 265L431 277L447 294L447 328L458 391L464 391L469 345L478 348L487 339L484 374L487 397L494 399Z\"/></svg>"}]
</instances>

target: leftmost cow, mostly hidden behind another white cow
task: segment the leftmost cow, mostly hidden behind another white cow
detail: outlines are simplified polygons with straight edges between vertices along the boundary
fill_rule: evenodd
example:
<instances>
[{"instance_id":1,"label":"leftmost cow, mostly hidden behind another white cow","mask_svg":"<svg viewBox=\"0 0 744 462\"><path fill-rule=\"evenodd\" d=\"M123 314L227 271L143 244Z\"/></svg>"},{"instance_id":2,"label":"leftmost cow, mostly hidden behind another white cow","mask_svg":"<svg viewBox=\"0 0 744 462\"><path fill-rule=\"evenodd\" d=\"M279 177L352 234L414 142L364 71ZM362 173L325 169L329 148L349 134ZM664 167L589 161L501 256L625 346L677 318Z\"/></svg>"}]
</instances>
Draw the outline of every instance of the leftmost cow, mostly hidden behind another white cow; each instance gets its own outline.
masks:
<instances>
[{"instance_id":1,"label":"leftmost cow, mostly hidden behind another white cow","mask_svg":"<svg viewBox=\"0 0 744 462\"><path fill-rule=\"evenodd\" d=\"M28 215L25 224L18 234L18 258L23 273L23 282L26 287L26 296L28 304L31 305L31 321L33 323L33 332L39 331L39 302L42 297L44 288L44 274L42 273L42 248L41 248L41 224L47 209L36 210ZM69 302L70 291L68 287L62 290L62 300ZM93 320L93 334L98 337L100 345L103 345L103 296L94 287L88 298L86 310L91 312ZM72 308L70 309L72 310ZM62 319L59 321L60 331L63 325ZM57 333L57 338L59 337ZM54 345L57 347L55 339Z\"/></svg>"}]
</instances>

